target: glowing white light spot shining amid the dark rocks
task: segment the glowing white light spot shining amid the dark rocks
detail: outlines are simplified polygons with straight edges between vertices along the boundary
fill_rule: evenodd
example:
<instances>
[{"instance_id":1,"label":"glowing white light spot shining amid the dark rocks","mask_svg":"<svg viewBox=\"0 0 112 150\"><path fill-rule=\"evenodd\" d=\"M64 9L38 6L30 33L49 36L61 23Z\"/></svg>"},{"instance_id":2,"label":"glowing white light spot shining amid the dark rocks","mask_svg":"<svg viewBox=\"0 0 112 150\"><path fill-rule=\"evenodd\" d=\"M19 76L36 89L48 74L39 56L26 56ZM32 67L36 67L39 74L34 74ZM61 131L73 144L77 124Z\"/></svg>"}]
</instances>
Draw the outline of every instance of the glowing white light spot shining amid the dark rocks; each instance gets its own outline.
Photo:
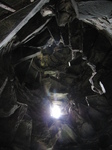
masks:
<instances>
[{"instance_id":1,"label":"glowing white light spot shining amid the dark rocks","mask_svg":"<svg viewBox=\"0 0 112 150\"><path fill-rule=\"evenodd\" d=\"M58 105L54 104L51 107L51 116L56 119L59 119L61 117L61 109Z\"/></svg>"}]
</instances>

